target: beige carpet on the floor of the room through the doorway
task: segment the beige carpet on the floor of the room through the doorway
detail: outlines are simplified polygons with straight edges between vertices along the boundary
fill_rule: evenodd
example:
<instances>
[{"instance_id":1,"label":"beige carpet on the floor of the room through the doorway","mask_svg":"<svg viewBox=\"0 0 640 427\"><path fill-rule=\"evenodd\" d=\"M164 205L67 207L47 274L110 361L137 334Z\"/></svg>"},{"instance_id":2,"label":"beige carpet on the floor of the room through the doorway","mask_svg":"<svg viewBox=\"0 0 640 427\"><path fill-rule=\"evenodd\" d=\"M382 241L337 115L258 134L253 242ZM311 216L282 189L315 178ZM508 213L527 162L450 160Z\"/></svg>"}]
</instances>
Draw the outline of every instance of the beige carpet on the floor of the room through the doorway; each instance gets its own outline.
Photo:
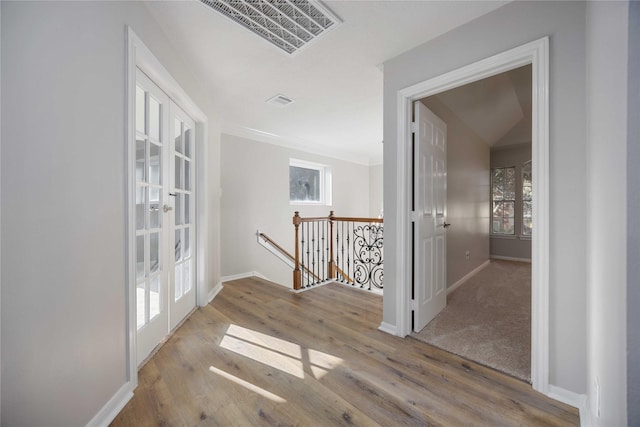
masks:
<instances>
[{"instance_id":1,"label":"beige carpet on the floor of the room through the doorway","mask_svg":"<svg viewBox=\"0 0 640 427\"><path fill-rule=\"evenodd\" d=\"M492 260L412 336L531 382L531 264Z\"/></svg>"}]
</instances>

